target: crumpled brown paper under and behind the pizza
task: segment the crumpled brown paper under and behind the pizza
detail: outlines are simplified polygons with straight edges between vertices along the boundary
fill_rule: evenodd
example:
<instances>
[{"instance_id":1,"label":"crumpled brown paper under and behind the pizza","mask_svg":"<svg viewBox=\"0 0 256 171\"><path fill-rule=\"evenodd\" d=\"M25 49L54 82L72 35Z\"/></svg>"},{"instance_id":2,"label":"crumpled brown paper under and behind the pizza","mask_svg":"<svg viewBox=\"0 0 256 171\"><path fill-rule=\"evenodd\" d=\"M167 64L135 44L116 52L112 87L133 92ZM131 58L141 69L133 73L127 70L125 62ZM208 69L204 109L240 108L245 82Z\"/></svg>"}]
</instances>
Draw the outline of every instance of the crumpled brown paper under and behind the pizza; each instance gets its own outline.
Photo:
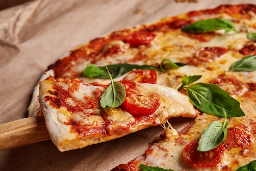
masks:
<instances>
[{"instance_id":1,"label":"crumpled brown paper under and behind the pizza","mask_svg":"<svg viewBox=\"0 0 256 171\"><path fill-rule=\"evenodd\" d=\"M47 66L73 47L141 23L191 10L254 0L35 0L0 11L0 123L27 117ZM181 130L190 119L171 119ZM181 123L181 124L179 124ZM1 171L107 171L144 153L161 126L83 149L59 152L45 142L0 152Z\"/></svg>"}]
</instances>

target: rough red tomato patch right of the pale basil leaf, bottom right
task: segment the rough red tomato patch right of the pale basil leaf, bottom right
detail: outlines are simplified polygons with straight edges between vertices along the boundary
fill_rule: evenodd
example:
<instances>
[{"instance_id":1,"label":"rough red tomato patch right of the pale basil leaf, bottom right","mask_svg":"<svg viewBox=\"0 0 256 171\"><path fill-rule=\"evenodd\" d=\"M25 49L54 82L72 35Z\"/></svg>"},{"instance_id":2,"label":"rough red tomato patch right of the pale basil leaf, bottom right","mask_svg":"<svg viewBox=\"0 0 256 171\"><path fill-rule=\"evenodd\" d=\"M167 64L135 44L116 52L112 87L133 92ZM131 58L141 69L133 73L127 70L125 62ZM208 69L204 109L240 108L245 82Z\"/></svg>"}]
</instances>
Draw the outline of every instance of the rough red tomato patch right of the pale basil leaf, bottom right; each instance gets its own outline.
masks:
<instances>
[{"instance_id":1,"label":"rough red tomato patch right of the pale basil leaf, bottom right","mask_svg":"<svg viewBox=\"0 0 256 171\"><path fill-rule=\"evenodd\" d=\"M229 150L233 147L247 148L252 142L249 128L244 124L238 124L228 129L227 138L223 142L225 149Z\"/></svg>"}]
</instances>

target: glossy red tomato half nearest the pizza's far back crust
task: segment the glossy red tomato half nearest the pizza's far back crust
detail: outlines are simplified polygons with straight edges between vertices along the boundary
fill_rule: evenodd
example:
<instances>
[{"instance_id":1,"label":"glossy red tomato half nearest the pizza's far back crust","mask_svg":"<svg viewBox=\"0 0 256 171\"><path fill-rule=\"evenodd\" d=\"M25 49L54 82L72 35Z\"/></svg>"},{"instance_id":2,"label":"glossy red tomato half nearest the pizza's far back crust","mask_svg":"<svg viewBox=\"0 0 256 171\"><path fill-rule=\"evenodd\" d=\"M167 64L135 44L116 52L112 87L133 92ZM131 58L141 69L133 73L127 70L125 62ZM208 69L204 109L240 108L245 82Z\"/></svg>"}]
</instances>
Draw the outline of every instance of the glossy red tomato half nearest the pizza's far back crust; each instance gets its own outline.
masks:
<instances>
[{"instance_id":1,"label":"glossy red tomato half nearest the pizza's far back crust","mask_svg":"<svg viewBox=\"0 0 256 171\"><path fill-rule=\"evenodd\" d=\"M151 41L154 40L156 35L148 31L136 31L126 37L126 42L130 46L136 47L139 45L150 45Z\"/></svg>"}]
</instances>

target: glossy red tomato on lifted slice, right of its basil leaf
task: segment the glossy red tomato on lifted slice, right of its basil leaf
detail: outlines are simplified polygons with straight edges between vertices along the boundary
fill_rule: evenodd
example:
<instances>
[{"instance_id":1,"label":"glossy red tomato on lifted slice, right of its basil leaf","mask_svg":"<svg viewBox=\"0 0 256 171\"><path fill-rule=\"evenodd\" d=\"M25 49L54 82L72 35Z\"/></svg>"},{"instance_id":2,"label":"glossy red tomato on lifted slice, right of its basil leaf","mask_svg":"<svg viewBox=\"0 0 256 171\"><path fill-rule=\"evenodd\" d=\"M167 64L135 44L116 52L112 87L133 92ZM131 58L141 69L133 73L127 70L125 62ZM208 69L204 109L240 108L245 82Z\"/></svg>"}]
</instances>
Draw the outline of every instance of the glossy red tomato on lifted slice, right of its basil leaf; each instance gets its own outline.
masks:
<instances>
[{"instance_id":1,"label":"glossy red tomato on lifted slice, right of its basil leaf","mask_svg":"<svg viewBox=\"0 0 256 171\"><path fill-rule=\"evenodd\" d=\"M123 79L121 83L125 86L126 91L125 101L121 107L132 116L149 116L160 106L158 94L144 96L138 92L134 81Z\"/></svg>"}]
</instances>

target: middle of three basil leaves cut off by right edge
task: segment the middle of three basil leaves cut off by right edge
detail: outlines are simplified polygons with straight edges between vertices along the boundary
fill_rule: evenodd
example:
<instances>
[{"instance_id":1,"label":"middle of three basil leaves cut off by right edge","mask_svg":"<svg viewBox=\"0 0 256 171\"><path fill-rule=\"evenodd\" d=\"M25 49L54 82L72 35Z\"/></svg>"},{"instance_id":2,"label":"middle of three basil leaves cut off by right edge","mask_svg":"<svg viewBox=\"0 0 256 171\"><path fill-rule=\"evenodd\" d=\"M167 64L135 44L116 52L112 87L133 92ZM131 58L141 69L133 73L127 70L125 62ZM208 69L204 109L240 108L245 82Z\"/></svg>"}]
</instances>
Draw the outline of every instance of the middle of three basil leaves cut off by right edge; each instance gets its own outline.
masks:
<instances>
[{"instance_id":1,"label":"middle of three basil leaves cut off by right edge","mask_svg":"<svg viewBox=\"0 0 256 171\"><path fill-rule=\"evenodd\" d=\"M256 71L256 55L244 57L232 64L230 71Z\"/></svg>"}]
</instances>

